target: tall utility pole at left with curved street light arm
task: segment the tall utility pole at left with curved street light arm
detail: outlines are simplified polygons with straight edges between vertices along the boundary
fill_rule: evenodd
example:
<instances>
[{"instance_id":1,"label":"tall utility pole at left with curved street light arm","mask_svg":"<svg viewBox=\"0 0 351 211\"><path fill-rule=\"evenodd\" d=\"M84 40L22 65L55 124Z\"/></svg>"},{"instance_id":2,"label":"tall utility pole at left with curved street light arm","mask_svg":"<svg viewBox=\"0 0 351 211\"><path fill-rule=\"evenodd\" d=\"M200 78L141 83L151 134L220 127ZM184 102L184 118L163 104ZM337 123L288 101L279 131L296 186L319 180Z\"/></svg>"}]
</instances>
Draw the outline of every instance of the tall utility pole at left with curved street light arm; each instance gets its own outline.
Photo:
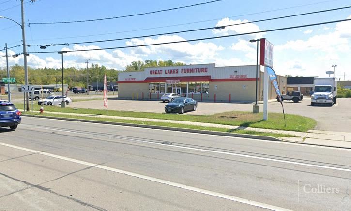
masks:
<instances>
[{"instance_id":1,"label":"tall utility pole at left with curved street light arm","mask_svg":"<svg viewBox=\"0 0 351 211\"><path fill-rule=\"evenodd\" d=\"M13 22L15 22L18 26L21 27L22 29L22 44L23 44L23 62L24 62L24 84L28 85L28 68L27 68L27 51L26 51L26 36L25 36L25 24L24 24L24 4L23 1L24 0L20 0L21 1L21 16L22 16L22 24L18 23L17 21L8 18L8 17L4 17L4 16L0 16L0 18L2 19L8 19L11 20ZM26 95L26 100L27 100L27 108L25 110L29 111L29 95L28 92L25 92Z\"/></svg>"}]
</instances>

